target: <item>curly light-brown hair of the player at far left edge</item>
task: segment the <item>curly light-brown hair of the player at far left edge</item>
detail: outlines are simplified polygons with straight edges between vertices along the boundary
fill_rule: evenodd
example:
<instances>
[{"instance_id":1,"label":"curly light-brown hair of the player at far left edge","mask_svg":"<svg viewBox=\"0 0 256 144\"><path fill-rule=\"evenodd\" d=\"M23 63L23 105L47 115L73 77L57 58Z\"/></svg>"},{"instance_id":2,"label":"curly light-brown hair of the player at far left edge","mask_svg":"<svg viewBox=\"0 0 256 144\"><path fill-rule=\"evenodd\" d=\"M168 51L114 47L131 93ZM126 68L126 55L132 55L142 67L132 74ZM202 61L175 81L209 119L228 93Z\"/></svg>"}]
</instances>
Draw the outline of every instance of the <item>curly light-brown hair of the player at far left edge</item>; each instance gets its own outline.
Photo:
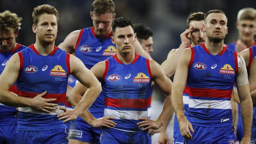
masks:
<instances>
[{"instance_id":1,"label":"curly light-brown hair of the player at far left edge","mask_svg":"<svg viewBox=\"0 0 256 144\"><path fill-rule=\"evenodd\" d=\"M16 13L12 13L11 11L7 10L0 13L0 31L19 31L21 29L21 20L21 17L18 17Z\"/></svg>"}]
</instances>

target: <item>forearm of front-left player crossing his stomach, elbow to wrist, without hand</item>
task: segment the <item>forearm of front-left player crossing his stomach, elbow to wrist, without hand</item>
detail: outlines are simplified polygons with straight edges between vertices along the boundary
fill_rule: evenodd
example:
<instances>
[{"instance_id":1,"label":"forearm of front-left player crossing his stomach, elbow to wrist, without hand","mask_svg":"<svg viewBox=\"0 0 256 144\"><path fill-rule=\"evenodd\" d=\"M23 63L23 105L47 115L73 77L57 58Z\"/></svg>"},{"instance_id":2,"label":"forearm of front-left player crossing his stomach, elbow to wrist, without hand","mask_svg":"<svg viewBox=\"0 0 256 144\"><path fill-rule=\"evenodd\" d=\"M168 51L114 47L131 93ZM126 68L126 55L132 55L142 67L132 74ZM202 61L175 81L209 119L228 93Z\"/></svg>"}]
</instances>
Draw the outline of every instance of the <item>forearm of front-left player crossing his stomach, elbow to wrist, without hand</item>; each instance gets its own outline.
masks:
<instances>
[{"instance_id":1,"label":"forearm of front-left player crossing his stomach, elbow to wrist, without hand","mask_svg":"<svg viewBox=\"0 0 256 144\"><path fill-rule=\"evenodd\" d=\"M0 90L0 103L4 105L9 105L11 107L29 107L32 106L31 98L24 98L17 96L8 90Z\"/></svg>"}]
</instances>

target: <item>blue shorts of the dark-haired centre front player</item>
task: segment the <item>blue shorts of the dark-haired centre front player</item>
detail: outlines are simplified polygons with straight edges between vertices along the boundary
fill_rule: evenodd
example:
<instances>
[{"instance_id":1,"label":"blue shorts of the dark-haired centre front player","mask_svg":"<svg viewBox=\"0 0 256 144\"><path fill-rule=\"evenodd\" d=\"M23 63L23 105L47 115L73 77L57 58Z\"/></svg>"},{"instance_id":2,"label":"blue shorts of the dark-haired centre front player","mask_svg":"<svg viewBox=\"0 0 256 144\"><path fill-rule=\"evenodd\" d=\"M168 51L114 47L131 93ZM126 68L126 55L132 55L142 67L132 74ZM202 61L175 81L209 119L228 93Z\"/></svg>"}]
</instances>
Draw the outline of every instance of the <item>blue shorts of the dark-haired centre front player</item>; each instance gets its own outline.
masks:
<instances>
[{"instance_id":1,"label":"blue shorts of the dark-haired centre front player","mask_svg":"<svg viewBox=\"0 0 256 144\"><path fill-rule=\"evenodd\" d=\"M127 132L102 128L100 144L151 144L148 132Z\"/></svg>"}]
</instances>

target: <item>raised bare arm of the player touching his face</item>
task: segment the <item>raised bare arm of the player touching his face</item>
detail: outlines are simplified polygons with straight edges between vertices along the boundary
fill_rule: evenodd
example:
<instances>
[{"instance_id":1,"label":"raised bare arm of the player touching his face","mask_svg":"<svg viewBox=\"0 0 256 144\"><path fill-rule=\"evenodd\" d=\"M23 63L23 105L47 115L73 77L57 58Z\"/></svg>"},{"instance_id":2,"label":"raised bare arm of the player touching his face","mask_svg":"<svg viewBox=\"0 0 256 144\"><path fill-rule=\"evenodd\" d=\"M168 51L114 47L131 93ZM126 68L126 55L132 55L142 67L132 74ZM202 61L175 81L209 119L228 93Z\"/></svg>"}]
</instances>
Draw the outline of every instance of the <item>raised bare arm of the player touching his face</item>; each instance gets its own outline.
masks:
<instances>
[{"instance_id":1,"label":"raised bare arm of the player touching his face","mask_svg":"<svg viewBox=\"0 0 256 144\"><path fill-rule=\"evenodd\" d=\"M169 52L167 59L161 64L161 67L163 68L163 71L165 74L171 78L173 76L176 67L177 67L177 62L179 61L180 55L182 54L182 51L187 48L190 44L189 40L189 33L193 31L193 27L191 26L189 29L184 31L182 34L180 34L180 39L181 39L181 44L178 49L171 50L174 51L173 53Z\"/></svg>"}]
</instances>

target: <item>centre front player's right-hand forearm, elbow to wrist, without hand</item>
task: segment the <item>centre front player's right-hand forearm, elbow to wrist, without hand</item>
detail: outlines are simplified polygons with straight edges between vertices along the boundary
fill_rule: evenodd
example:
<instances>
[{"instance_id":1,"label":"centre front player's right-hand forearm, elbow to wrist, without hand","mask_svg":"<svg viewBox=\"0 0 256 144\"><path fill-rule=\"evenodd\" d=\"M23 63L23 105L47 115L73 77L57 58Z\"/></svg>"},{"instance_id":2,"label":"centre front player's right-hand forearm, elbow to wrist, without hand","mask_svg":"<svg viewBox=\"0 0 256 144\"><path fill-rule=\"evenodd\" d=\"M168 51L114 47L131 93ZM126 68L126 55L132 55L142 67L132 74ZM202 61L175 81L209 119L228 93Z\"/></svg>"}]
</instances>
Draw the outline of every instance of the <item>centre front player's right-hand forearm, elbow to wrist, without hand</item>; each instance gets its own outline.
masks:
<instances>
[{"instance_id":1,"label":"centre front player's right-hand forearm, elbow to wrist, without hand","mask_svg":"<svg viewBox=\"0 0 256 144\"><path fill-rule=\"evenodd\" d=\"M171 105L171 95L167 96L165 103L163 105L163 111L161 112L160 116L158 117L158 121L165 126L164 128L168 126L171 117L173 116L173 107Z\"/></svg>"}]
</instances>

